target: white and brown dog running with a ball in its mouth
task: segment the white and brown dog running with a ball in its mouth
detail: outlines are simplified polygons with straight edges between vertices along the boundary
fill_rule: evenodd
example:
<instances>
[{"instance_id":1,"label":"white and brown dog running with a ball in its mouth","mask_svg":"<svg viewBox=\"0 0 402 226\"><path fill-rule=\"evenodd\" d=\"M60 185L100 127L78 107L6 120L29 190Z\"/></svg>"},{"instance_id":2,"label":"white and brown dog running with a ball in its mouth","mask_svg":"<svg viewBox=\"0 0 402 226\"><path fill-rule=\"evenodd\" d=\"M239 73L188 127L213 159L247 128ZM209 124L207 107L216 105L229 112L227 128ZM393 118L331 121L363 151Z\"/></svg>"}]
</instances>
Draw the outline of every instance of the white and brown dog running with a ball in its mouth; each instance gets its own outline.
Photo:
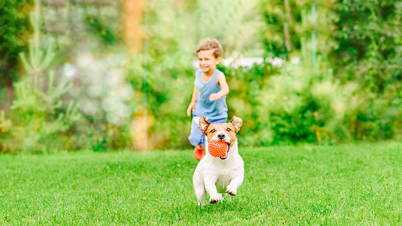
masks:
<instances>
[{"instance_id":1,"label":"white and brown dog running with a ball in its mouth","mask_svg":"<svg viewBox=\"0 0 402 226\"><path fill-rule=\"evenodd\" d=\"M201 116L199 125L206 136L205 156L198 163L193 175L193 186L199 205L205 203L205 191L209 203L223 201L226 194L235 196L244 178L244 162L238 153L236 133L243 120L233 116L229 123L211 124ZM225 141L228 145L226 156L215 158L208 152L211 140Z\"/></svg>"}]
</instances>

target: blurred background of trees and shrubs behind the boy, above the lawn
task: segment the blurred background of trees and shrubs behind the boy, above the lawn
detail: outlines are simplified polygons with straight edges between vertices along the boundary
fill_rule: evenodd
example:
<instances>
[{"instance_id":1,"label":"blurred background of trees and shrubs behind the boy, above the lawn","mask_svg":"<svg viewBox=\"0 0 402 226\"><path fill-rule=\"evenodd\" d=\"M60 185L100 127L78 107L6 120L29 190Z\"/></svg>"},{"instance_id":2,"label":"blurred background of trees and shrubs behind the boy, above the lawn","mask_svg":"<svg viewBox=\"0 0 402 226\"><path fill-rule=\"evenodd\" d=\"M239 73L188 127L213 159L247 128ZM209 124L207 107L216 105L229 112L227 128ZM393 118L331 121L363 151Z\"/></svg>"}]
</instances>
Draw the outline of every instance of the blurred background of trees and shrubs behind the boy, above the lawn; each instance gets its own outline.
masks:
<instances>
[{"instance_id":1,"label":"blurred background of trees and shrubs behind the boy, above the lawn","mask_svg":"<svg viewBox=\"0 0 402 226\"><path fill-rule=\"evenodd\" d=\"M401 138L401 1L2 0L1 152L190 148L205 37L240 145Z\"/></svg>"}]
</instances>

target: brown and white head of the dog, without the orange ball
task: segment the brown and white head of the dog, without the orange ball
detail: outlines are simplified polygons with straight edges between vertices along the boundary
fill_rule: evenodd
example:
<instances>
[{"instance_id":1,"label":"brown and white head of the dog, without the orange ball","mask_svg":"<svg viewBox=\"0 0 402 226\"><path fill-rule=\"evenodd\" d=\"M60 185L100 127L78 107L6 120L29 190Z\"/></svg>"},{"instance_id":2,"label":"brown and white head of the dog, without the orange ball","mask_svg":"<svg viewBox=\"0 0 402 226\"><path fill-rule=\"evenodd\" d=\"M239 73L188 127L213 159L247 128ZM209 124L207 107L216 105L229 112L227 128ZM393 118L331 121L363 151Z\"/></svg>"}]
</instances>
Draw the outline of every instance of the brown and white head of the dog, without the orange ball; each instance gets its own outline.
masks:
<instances>
[{"instance_id":1,"label":"brown and white head of the dog, without the orange ball","mask_svg":"<svg viewBox=\"0 0 402 226\"><path fill-rule=\"evenodd\" d=\"M239 132L240 127L243 124L243 120L239 117L233 116L229 123L211 124L205 120L204 115L202 115L199 124L201 132L207 137L208 143L211 140L225 141L228 152L230 150L230 146L234 145L236 142L236 133Z\"/></svg>"}]
</instances>

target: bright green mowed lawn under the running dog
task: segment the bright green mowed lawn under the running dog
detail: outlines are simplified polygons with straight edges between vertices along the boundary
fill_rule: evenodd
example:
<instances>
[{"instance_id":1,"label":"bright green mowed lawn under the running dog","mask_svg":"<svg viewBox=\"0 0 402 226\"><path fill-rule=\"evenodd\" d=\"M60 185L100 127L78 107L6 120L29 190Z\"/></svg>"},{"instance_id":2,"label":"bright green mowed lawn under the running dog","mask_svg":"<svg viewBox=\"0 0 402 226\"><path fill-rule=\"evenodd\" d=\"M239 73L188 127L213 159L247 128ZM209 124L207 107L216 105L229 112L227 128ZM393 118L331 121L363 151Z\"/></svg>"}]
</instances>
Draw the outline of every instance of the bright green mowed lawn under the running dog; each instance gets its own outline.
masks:
<instances>
[{"instance_id":1,"label":"bright green mowed lawn under the running dog","mask_svg":"<svg viewBox=\"0 0 402 226\"><path fill-rule=\"evenodd\" d=\"M192 150L3 155L0 225L402 224L401 143L240 153L238 195L202 208Z\"/></svg>"}]
</instances>

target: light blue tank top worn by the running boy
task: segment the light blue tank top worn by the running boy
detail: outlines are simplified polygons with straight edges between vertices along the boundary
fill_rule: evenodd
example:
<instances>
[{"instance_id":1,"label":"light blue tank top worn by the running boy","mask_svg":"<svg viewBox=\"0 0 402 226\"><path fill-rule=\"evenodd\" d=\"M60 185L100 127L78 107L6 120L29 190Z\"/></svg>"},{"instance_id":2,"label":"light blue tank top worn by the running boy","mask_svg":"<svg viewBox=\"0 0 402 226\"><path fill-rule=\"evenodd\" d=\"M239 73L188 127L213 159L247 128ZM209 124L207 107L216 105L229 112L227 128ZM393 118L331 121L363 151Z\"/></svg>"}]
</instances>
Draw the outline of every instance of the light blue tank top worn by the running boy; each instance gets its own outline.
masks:
<instances>
[{"instance_id":1,"label":"light blue tank top worn by the running boy","mask_svg":"<svg viewBox=\"0 0 402 226\"><path fill-rule=\"evenodd\" d=\"M216 78L222 71L216 69L209 82L202 82L201 73L202 70L198 69L194 81L194 85L197 87L197 102L193 115L201 117L203 114L206 120L227 118L226 96L214 101L209 100L209 95L221 90Z\"/></svg>"}]
</instances>

